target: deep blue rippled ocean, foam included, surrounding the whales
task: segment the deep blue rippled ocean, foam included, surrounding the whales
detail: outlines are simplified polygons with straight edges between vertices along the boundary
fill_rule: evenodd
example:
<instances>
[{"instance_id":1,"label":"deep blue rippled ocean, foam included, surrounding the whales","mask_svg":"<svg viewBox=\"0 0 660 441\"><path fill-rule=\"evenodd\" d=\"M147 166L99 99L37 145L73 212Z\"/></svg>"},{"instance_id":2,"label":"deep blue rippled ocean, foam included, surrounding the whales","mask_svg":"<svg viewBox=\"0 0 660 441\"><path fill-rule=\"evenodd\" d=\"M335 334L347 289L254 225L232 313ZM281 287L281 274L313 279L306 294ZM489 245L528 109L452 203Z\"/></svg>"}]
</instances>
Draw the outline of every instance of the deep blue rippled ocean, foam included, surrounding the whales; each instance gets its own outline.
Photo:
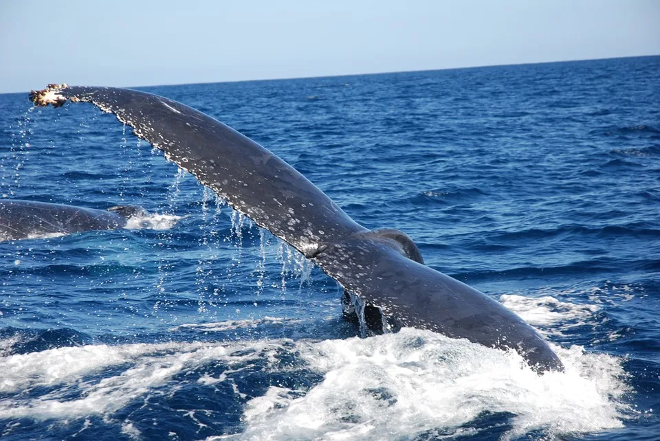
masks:
<instances>
[{"instance_id":1,"label":"deep blue rippled ocean, foam included, surrounding the whales","mask_svg":"<svg viewBox=\"0 0 660 441\"><path fill-rule=\"evenodd\" d=\"M660 57L143 89L406 231L566 373L361 339L335 282L115 117L0 95L2 198L154 213L0 242L3 439L660 439Z\"/></svg>"}]
</instances>

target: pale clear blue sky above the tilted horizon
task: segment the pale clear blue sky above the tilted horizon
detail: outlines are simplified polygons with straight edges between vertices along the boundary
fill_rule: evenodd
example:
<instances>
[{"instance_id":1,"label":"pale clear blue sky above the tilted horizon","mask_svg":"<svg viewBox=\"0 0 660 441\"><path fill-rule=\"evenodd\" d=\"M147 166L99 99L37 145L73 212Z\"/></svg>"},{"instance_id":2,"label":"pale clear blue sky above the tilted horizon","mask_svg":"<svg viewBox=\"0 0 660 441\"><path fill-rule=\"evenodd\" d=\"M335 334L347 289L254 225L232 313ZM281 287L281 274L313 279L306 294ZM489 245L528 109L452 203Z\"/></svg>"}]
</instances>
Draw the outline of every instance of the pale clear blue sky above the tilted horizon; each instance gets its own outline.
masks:
<instances>
[{"instance_id":1,"label":"pale clear blue sky above the tilted horizon","mask_svg":"<svg viewBox=\"0 0 660 441\"><path fill-rule=\"evenodd\" d=\"M0 0L0 93L660 54L660 0Z\"/></svg>"}]
</instances>

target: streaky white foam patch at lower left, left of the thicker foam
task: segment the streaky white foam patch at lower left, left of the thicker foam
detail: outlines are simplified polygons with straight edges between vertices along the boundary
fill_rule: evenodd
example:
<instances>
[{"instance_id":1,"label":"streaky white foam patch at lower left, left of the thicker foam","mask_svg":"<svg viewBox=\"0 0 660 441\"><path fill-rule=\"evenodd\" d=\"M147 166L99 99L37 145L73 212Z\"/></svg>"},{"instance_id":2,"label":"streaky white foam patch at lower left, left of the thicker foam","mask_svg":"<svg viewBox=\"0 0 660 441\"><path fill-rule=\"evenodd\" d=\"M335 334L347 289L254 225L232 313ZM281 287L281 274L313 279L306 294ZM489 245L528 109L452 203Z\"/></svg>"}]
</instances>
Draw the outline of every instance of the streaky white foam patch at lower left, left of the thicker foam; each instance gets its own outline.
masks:
<instances>
[{"instance_id":1,"label":"streaky white foam patch at lower left, left of the thicker foam","mask_svg":"<svg viewBox=\"0 0 660 441\"><path fill-rule=\"evenodd\" d=\"M251 347L263 347L261 342ZM14 398L0 401L0 419L80 418L108 416L131 400L163 385L181 370L209 360L236 363L255 357L234 355L243 343L137 343L121 346L89 345L57 348L0 359L1 389L15 392ZM105 378L85 378L108 367L120 373ZM23 398L21 391L58 385L39 398ZM70 387L79 387L77 398L67 398Z\"/></svg>"}]
</instances>

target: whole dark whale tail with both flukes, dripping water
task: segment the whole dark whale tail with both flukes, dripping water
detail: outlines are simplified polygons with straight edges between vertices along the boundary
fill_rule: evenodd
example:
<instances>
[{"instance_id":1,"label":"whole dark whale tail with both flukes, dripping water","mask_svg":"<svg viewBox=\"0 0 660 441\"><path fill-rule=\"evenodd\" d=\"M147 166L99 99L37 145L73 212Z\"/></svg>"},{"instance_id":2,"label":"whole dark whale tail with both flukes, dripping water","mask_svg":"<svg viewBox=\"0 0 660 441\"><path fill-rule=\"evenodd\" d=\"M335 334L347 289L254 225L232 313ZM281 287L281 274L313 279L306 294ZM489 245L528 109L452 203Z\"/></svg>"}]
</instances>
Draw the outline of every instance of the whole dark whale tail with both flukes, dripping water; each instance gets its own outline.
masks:
<instances>
[{"instance_id":1,"label":"whole dark whale tail with both flukes, dripping water","mask_svg":"<svg viewBox=\"0 0 660 441\"><path fill-rule=\"evenodd\" d=\"M516 350L539 373L564 369L536 330L491 297L427 267L402 231L362 227L292 166L218 120L130 89L50 84L30 100L56 107L89 102L113 113L234 210L314 261L371 313Z\"/></svg>"}]
</instances>

